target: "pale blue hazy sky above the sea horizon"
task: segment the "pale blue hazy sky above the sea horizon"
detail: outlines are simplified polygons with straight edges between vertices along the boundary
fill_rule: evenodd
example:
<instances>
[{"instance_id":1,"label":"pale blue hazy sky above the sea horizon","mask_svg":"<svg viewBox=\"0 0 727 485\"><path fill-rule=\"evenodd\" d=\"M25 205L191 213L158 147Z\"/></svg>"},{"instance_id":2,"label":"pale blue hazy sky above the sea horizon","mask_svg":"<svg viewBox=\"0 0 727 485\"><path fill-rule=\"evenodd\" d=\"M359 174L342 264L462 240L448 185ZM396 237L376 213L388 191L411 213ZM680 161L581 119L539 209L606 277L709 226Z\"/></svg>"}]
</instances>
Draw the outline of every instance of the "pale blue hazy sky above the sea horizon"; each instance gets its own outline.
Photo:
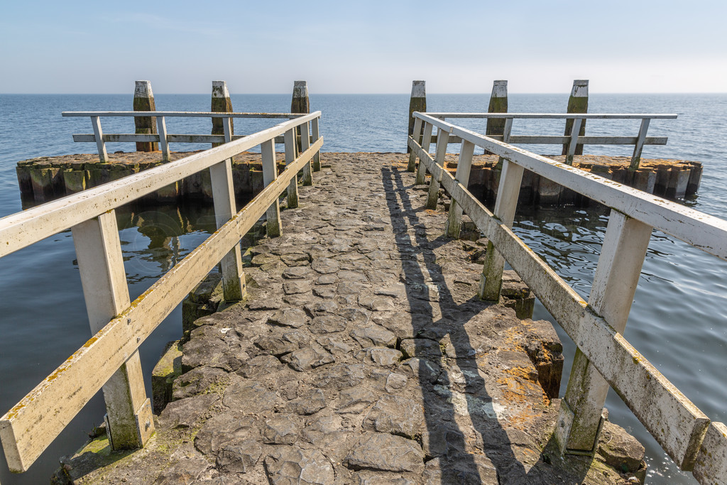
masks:
<instances>
[{"instance_id":1,"label":"pale blue hazy sky above the sea horizon","mask_svg":"<svg viewBox=\"0 0 727 485\"><path fill-rule=\"evenodd\" d=\"M0 93L727 92L721 1L5 1Z\"/></svg>"}]
</instances>

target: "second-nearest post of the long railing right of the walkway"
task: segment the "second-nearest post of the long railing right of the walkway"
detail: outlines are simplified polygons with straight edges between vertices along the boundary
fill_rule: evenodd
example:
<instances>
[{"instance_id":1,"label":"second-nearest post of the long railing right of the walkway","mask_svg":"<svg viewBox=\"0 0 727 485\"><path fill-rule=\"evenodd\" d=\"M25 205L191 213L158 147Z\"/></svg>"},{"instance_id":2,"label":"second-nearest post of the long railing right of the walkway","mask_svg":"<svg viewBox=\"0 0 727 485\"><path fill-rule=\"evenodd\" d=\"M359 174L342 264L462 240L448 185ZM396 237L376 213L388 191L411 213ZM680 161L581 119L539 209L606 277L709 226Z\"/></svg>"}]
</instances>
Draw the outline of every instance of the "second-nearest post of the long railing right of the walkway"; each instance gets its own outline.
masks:
<instances>
[{"instance_id":1,"label":"second-nearest post of the long railing right of the walkway","mask_svg":"<svg viewBox=\"0 0 727 485\"><path fill-rule=\"evenodd\" d=\"M495 201L494 215L500 222L513 226L515 209L518 207L520 185L523 181L523 167L505 160L502 164L497 200ZM505 268L505 258L495 249L491 241L487 242L486 260L482 267L480 279L481 300L499 301L499 292L502 288L502 270Z\"/></svg>"}]
</instances>

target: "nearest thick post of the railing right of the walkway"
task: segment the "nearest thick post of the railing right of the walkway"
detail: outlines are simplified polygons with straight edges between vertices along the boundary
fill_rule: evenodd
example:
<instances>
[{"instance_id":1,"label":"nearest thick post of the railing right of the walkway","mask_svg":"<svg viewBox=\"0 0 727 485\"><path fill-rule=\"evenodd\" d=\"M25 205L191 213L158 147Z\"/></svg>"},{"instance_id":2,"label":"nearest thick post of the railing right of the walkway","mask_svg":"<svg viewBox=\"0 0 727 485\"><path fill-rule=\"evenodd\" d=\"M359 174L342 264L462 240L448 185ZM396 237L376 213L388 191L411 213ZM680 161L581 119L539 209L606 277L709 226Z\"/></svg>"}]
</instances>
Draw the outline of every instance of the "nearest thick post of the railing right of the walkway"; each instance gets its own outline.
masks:
<instances>
[{"instance_id":1,"label":"nearest thick post of the railing right of the walkway","mask_svg":"<svg viewBox=\"0 0 727 485\"><path fill-rule=\"evenodd\" d=\"M611 210L608 217L588 305L619 333L626 327L651 229L650 225L616 210ZM608 383L577 350L555 427L555 439L561 452L593 454L601 433L601 414L607 393Z\"/></svg>"}]
</instances>

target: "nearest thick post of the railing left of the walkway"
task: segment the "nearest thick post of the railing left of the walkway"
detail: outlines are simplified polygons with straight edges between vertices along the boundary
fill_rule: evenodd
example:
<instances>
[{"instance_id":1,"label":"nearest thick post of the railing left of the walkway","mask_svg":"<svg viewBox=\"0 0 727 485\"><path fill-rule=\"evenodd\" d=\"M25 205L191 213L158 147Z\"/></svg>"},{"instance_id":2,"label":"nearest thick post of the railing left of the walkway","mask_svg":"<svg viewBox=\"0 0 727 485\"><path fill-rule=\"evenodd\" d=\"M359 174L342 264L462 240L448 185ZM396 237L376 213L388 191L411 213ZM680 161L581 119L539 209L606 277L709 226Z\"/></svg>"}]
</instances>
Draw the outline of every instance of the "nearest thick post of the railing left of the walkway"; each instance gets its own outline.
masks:
<instances>
[{"instance_id":1,"label":"nearest thick post of the railing left of the walkway","mask_svg":"<svg viewBox=\"0 0 727 485\"><path fill-rule=\"evenodd\" d=\"M116 212L105 212L71 231L89 324L95 334L130 305ZM106 382L103 396L111 448L143 447L154 431L154 422L138 350Z\"/></svg>"}]
</instances>

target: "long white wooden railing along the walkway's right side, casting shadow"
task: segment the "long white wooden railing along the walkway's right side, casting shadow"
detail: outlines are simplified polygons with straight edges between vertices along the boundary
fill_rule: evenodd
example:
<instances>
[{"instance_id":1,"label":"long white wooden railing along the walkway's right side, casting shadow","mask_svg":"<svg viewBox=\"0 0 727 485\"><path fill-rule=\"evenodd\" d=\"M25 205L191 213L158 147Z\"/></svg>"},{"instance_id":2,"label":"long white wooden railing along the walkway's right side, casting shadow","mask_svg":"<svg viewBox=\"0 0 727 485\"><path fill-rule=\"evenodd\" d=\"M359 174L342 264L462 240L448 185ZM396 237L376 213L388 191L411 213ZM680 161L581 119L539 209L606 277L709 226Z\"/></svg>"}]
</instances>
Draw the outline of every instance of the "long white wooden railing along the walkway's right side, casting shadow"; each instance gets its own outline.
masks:
<instances>
[{"instance_id":1,"label":"long white wooden railing along the walkway's right side, casting shadow","mask_svg":"<svg viewBox=\"0 0 727 485\"><path fill-rule=\"evenodd\" d=\"M658 229L727 260L727 221L457 127L429 113L413 116L416 125L408 144L412 156L420 161L417 183L425 182L427 172L431 174L427 207L436 207L439 188L443 187L452 199L446 233L459 233L465 212L489 239L480 297L499 298L507 260L577 344L555 428L561 452L595 451L610 385L682 470L692 470L704 484L726 483L727 426L710 422L624 340L622 332L651 231ZM454 117L451 113L447 116ZM433 127L438 132L432 157ZM462 140L454 176L443 168L451 135ZM494 213L467 191L475 146L503 159ZM611 207L588 302L510 229L524 169Z\"/></svg>"}]
</instances>

